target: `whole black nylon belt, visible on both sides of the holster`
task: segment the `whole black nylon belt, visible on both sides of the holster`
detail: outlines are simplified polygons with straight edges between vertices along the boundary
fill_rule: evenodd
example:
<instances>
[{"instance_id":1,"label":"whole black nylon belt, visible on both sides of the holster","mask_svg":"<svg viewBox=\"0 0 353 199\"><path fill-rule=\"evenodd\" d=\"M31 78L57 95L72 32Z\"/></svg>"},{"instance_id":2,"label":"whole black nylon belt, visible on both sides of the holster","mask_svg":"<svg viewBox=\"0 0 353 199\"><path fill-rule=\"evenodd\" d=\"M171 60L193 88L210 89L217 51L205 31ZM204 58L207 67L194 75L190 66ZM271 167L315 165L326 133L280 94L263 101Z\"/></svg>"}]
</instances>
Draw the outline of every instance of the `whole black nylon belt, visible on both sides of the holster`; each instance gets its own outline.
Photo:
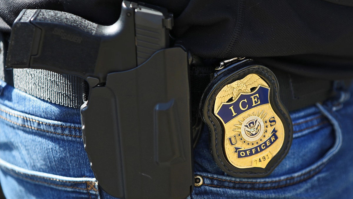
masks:
<instances>
[{"instance_id":1,"label":"whole black nylon belt, visible on both sides of the holster","mask_svg":"<svg viewBox=\"0 0 353 199\"><path fill-rule=\"evenodd\" d=\"M48 102L79 108L88 92L86 81L72 75L62 75L41 69L5 70L7 42L1 38L0 79L23 92ZM202 93L210 83L214 66L191 67L192 114L198 116L198 104ZM270 67L269 67L270 68ZM278 69L270 68L276 75L280 85L280 97L288 111L323 102L333 95L333 80L309 78ZM349 80L346 81L348 84Z\"/></svg>"}]
</instances>

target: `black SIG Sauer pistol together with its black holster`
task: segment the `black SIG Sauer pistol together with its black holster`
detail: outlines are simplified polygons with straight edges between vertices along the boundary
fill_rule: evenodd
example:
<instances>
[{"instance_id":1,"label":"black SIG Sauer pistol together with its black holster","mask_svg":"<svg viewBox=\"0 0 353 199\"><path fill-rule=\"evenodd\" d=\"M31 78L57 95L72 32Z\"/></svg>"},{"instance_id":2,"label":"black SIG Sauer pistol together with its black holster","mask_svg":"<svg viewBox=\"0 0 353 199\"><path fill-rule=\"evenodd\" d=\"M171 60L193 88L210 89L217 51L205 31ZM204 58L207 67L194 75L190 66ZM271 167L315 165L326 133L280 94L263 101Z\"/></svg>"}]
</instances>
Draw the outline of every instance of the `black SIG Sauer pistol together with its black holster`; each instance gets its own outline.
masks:
<instances>
[{"instance_id":1,"label":"black SIG Sauer pistol together with its black holster","mask_svg":"<svg viewBox=\"0 0 353 199\"><path fill-rule=\"evenodd\" d=\"M190 56L170 47L166 9L123 1L112 25L23 10L6 68L46 69L89 84L82 135L98 185L118 198L186 198L193 188Z\"/></svg>"}]
</instances>

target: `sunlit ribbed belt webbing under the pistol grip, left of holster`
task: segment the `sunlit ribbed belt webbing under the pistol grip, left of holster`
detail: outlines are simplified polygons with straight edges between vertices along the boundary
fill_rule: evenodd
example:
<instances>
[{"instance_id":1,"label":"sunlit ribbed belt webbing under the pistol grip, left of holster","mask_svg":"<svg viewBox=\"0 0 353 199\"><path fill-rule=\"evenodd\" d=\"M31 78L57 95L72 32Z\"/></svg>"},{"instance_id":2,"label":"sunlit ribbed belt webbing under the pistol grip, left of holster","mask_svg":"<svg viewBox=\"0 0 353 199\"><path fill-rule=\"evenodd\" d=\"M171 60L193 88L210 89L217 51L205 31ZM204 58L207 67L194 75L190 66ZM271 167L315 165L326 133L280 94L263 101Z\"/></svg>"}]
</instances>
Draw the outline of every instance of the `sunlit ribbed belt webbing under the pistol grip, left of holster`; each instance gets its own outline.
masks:
<instances>
[{"instance_id":1,"label":"sunlit ribbed belt webbing under the pistol grip, left of holster","mask_svg":"<svg viewBox=\"0 0 353 199\"><path fill-rule=\"evenodd\" d=\"M71 108L79 108L83 104L88 85L82 78L42 69L4 69L6 44L0 33L1 80L29 95L55 104Z\"/></svg>"}]
</instances>

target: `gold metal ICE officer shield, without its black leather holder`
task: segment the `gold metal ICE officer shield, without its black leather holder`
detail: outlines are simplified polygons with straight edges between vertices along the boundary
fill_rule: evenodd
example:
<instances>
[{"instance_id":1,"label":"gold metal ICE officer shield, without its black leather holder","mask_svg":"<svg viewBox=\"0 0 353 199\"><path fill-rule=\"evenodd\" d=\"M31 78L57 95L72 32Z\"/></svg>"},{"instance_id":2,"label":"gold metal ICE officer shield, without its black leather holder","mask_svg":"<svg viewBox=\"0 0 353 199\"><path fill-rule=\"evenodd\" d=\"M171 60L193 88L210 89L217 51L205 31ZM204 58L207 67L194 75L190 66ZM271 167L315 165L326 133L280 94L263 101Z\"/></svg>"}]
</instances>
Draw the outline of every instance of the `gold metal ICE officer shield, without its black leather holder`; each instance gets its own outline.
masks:
<instances>
[{"instance_id":1,"label":"gold metal ICE officer shield, without its black leather holder","mask_svg":"<svg viewBox=\"0 0 353 199\"><path fill-rule=\"evenodd\" d=\"M251 92L251 88L256 89ZM269 94L265 81L249 74L216 96L215 114L224 125L226 157L235 167L265 168L282 147L284 128L269 103Z\"/></svg>"}]
</instances>

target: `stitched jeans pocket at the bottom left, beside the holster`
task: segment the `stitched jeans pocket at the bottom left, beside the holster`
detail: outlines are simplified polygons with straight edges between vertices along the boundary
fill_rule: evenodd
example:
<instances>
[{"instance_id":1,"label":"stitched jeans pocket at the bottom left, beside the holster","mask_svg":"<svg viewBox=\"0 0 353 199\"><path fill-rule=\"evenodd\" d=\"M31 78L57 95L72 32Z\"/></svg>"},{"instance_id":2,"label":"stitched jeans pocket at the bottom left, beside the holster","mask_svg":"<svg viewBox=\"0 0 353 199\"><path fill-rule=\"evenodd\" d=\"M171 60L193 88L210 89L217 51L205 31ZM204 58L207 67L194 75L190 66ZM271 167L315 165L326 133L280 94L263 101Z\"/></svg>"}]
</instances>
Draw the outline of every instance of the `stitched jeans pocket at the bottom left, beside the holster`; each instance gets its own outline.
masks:
<instances>
[{"instance_id":1,"label":"stitched jeans pocket at the bottom left, beside the holster","mask_svg":"<svg viewBox=\"0 0 353 199\"><path fill-rule=\"evenodd\" d=\"M99 198L95 178L31 171L4 160L0 160L0 168L7 198Z\"/></svg>"}]
</instances>

